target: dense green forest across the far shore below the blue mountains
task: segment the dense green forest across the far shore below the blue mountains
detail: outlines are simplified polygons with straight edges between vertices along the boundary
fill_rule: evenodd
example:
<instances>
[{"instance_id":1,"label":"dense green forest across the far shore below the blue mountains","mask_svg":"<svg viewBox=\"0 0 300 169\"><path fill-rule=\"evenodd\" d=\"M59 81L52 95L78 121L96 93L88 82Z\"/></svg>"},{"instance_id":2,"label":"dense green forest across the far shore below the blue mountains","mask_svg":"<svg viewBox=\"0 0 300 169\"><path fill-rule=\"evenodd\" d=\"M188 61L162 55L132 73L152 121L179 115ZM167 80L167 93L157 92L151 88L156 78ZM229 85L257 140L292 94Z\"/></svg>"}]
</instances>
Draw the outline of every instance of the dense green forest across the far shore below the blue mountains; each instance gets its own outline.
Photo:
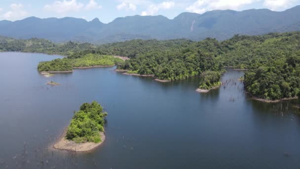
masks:
<instances>
[{"instance_id":1,"label":"dense green forest across the far shore below the blue mountains","mask_svg":"<svg viewBox=\"0 0 300 169\"><path fill-rule=\"evenodd\" d=\"M300 91L300 32L270 33L262 36L235 35L231 39L221 42L212 38L199 42L184 39L131 40L99 46L74 42L65 44L48 42L54 47L35 45L40 47L39 49L30 47L27 41L34 41L31 44L36 44L44 40L15 40L18 43L24 41L27 44L27 47L20 49L19 45L14 46L15 42L11 43L14 40L2 39L0 40L0 50L2 51L32 52L38 50L45 53L57 52L57 54L64 52L68 55L65 60L63 59L67 63L55 61L52 66L49 66L48 71L51 70L51 67L55 68L54 65L60 65L67 69L69 68L68 64L75 67L76 60L84 60L83 58L90 53L93 55L121 55L131 59L125 62L114 61L117 69L128 70L128 73L153 74L160 80L173 81L200 75L204 77L204 72L219 77L219 73L224 71L224 66L233 66L237 69L248 69L245 73L244 83L247 91L253 96L274 100L295 97ZM73 44L75 47L58 50L67 44ZM205 77L199 84L200 87L210 88L217 83L215 78Z\"/></svg>"}]
</instances>

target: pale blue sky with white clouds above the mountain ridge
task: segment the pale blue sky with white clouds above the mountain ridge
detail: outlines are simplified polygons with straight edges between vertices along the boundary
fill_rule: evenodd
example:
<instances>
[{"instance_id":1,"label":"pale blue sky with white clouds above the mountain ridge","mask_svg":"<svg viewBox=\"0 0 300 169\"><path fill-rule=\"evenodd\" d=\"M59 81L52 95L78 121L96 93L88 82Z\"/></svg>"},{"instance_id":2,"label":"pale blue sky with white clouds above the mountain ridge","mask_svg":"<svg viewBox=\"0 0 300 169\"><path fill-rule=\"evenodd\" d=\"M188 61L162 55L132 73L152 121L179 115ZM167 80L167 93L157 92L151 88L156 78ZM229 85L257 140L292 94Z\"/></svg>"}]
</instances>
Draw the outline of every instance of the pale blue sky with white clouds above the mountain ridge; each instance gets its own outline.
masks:
<instances>
[{"instance_id":1,"label":"pale blue sky with white clouds above the mountain ridge","mask_svg":"<svg viewBox=\"0 0 300 169\"><path fill-rule=\"evenodd\" d=\"M76 17L103 23L117 17L164 15L173 19L182 12L204 13L216 9L261 9L283 11L300 0L0 0L0 20Z\"/></svg>"}]
</instances>

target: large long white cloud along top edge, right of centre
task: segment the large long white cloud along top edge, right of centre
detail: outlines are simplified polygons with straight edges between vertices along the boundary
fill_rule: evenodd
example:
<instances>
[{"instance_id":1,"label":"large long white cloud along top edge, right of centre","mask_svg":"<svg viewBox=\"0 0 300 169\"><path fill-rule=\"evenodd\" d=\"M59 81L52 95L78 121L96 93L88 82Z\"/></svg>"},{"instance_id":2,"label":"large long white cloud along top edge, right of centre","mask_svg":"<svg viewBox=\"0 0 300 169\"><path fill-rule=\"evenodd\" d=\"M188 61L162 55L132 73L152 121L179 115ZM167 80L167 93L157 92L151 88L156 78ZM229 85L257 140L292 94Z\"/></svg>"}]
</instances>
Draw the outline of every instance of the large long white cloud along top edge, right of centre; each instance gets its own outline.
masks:
<instances>
[{"instance_id":1,"label":"large long white cloud along top edge, right of centre","mask_svg":"<svg viewBox=\"0 0 300 169\"><path fill-rule=\"evenodd\" d=\"M192 5L188 6L186 10L195 13L204 13L216 9L238 10L246 4L251 4L256 1L260 0L197 0Z\"/></svg>"}]
</instances>

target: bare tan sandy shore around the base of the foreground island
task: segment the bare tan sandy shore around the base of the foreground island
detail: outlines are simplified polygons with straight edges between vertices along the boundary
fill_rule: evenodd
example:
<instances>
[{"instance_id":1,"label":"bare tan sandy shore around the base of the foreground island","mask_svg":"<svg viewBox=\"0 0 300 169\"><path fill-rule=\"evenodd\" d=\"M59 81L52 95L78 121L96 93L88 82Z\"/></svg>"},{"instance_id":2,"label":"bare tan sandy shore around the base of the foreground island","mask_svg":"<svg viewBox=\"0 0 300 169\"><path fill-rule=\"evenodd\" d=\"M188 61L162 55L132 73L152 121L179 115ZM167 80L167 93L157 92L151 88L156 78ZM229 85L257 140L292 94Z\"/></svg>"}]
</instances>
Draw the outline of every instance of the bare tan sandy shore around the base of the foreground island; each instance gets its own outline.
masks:
<instances>
[{"instance_id":1,"label":"bare tan sandy shore around the base of the foreground island","mask_svg":"<svg viewBox=\"0 0 300 169\"><path fill-rule=\"evenodd\" d=\"M63 134L57 140L57 142L53 145L53 148L58 150L67 150L73 152L86 152L97 148L105 141L105 135L103 132L100 132L101 142L99 143L91 143L91 142L75 143L75 141L67 140L66 135L67 135L67 128L64 130Z\"/></svg>"}]
</instances>

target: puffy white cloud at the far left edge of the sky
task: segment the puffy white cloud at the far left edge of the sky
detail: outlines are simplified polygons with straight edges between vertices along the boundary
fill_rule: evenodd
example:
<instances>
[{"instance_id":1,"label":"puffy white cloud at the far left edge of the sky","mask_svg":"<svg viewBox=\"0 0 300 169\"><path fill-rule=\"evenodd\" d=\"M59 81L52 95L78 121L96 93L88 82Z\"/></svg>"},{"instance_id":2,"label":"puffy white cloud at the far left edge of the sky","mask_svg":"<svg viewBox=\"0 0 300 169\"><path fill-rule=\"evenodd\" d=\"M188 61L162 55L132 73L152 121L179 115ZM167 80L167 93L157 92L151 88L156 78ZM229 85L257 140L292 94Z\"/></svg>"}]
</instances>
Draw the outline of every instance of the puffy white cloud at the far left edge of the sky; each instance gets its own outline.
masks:
<instances>
[{"instance_id":1,"label":"puffy white cloud at the far left edge of the sky","mask_svg":"<svg viewBox=\"0 0 300 169\"><path fill-rule=\"evenodd\" d=\"M2 16L2 18L7 20L17 20L24 18L28 14L27 11L23 9L23 4L12 3L10 5L10 10L6 11Z\"/></svg>"}]
</instances>

